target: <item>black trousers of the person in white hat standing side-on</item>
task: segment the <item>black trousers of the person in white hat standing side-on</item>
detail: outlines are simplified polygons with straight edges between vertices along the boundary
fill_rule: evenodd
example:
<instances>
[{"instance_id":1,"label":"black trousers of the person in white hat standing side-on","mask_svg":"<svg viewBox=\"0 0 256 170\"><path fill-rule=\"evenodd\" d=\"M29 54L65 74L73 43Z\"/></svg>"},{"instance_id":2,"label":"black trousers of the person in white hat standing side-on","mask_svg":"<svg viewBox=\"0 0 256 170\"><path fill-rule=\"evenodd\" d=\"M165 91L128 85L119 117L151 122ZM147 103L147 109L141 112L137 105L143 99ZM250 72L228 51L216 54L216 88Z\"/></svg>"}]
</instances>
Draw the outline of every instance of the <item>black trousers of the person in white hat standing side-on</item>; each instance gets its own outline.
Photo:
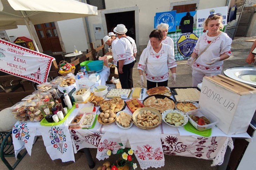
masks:
<instances>
[{"instance_id":1,"label":"black trousers of the person in white hat standing side-on","mask_svg":"<svg viewBox=\"0 0 256 170\"><path fill-rule=\"evenodd\" d=\"M123 65L123 74L119 75L119 80L122 86L122 89L130 89L133 88L133 66L135 62L131 62L130 64ZM119 68L119 62L117 61L117 69Z\"/></svg>"}]
</instances>

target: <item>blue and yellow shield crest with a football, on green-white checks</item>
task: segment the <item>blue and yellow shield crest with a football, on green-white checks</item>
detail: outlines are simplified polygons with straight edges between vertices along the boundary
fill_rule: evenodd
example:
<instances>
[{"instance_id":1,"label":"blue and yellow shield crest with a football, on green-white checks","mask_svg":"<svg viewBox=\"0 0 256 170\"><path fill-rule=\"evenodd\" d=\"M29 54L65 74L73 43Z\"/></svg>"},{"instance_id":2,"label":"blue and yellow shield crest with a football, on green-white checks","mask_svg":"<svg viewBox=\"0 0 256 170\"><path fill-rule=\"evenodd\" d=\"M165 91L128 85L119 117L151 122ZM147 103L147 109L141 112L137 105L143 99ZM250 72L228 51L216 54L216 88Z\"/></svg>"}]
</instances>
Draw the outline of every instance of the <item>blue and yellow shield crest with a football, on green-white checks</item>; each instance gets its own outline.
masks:
<instances>
[{"instance_id":1,"label":"blue and yellow shield crest with a football, on green-white checks","mask_svg":"<svg viewBox=\"0 0 256 170\"><path fill-rule=\"evenodd\" d=\"M177 40L178 52L184 57L190 57L193 53L198 36L192 33L181 34Z\"/></svg>"}]
</instances>

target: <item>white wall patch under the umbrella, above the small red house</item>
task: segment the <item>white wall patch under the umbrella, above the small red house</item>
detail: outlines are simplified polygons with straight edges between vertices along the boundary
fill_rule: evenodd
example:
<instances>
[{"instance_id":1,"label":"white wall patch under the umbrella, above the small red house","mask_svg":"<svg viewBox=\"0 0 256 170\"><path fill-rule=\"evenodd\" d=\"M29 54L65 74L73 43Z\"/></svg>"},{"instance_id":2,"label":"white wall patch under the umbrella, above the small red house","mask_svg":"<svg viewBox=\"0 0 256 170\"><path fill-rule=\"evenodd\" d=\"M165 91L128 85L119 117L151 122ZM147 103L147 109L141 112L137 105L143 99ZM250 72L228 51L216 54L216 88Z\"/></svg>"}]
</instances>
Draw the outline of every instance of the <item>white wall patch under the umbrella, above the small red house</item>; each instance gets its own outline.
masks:
<instances>
[{"instance_id":1,"label":"white wall patch under the umbrella, above the small red house","mask_svg":"<svg viewBox=\"0 0 256 170\"><path fill-rule=\"evenodd\" d=\"M6 34L10 40L11 40L10 36L14 36L14 40L17 37L27 37L31 39L31 36L29 35L26 25L18 25L18 28L16 29L6 30Z\"/></svg>"}]
</instances>

